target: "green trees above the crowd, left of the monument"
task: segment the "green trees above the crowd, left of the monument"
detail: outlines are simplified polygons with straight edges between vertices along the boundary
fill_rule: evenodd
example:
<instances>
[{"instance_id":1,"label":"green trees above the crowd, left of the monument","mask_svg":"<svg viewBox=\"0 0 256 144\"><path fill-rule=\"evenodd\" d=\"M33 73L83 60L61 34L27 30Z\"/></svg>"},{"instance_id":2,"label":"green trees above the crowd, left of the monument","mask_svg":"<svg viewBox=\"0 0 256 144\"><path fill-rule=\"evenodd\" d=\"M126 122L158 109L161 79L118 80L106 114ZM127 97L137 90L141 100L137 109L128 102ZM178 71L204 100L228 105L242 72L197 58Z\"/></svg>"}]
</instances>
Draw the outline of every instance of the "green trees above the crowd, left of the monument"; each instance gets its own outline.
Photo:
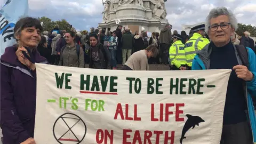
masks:
<instances>
[{"instance_id":1,"label":"green trees above the crowd, left of the monument","mask_svg":"<svg viewBox=\"0 0 256 144\"><path fill-rule=\"evenodd\" d=\"M40 22L43 22L43 30L51 31L55 25L59 25L60 30L70 30L71 25L65 19L62 19L60 21L52 21L50 18L47 17L41 17L38 19Z\"/></svg>"}]
</instances>

